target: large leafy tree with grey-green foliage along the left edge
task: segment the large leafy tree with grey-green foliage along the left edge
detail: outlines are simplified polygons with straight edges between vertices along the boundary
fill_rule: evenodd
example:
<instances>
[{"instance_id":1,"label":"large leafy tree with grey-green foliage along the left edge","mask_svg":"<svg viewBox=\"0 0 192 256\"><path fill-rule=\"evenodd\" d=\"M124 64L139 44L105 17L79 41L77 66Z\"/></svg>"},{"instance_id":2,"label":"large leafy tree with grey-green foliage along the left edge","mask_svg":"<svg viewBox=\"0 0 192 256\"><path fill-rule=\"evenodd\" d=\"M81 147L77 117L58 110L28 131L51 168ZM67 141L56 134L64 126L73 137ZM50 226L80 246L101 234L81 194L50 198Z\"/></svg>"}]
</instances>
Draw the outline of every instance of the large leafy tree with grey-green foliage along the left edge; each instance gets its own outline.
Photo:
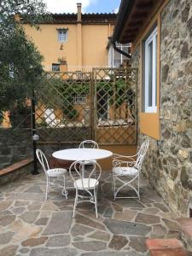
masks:
<instances>
[{"instance_id":1,"label":"large leafy tree with grey-green foliage along the left edge","mask_svg":"<svg viewBox=\"0 0 192 256\"><path fill-rule=\"evenodd\" d=\"M21 25L27 22L38 29L38 23L47 19L45 9L42 0L0 3L0 113L25 108L26 97L38 86L43 56Z\"/></svg>"}]
</instances>

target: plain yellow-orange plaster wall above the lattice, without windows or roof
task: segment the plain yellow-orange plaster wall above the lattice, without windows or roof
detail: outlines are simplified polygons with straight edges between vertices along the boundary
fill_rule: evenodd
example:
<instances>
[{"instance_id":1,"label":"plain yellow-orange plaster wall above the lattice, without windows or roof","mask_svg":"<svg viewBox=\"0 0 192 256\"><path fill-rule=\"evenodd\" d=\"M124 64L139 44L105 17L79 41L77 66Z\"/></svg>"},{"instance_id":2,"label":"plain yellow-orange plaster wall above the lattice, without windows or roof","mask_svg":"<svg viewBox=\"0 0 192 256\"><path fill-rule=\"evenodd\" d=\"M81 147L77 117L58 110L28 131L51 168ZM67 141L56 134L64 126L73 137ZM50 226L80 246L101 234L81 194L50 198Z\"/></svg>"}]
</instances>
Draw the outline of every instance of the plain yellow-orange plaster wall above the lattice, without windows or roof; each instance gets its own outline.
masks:
<instances>
[{"instance_id":1,"label":"plain yellow-orange plaster wall above the lattice, without windows or roof","mask_svg":"<svg viewBox=\"0 0 192 256\"><path fill-rule=\"evenodd\" d=\"M47 24L41 25L37 31L34 27L24 25L26 34L44 55L44 68L50 71L52 63L58 63L58 58L66 58L68 66L108 66L108 37L113 32L113 26L81 25L82 54L79 55L79 41L77 24ZM56 28L68 28L68 40L63 43L57 38ZM78 57L82 60L79 61Z\"/></svg>"}]
</instances>

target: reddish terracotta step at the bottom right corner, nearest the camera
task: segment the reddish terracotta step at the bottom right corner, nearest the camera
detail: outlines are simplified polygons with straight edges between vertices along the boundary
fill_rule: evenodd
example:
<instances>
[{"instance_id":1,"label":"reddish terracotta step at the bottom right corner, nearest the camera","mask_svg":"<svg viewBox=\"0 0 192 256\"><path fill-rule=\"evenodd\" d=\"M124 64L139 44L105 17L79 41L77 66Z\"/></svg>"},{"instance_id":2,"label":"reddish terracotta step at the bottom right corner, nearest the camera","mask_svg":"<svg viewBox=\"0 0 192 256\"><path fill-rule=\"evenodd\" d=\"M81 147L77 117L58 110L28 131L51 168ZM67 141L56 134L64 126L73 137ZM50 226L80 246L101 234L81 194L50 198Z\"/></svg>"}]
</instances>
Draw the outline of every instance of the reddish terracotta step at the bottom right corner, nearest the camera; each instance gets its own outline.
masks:
<instances>
[{"instance_id":1,"label":"reddish terracotta step at the bottom right corner, nearest the camera","mask_svg":"<svg viewBox=\"0 0 192 256\"><path fill-rule=\"evenodd\" d=\"M148 239L146 245L150 256L189 256L183 243L176 238Z\"/></svg>"}]
</instances>

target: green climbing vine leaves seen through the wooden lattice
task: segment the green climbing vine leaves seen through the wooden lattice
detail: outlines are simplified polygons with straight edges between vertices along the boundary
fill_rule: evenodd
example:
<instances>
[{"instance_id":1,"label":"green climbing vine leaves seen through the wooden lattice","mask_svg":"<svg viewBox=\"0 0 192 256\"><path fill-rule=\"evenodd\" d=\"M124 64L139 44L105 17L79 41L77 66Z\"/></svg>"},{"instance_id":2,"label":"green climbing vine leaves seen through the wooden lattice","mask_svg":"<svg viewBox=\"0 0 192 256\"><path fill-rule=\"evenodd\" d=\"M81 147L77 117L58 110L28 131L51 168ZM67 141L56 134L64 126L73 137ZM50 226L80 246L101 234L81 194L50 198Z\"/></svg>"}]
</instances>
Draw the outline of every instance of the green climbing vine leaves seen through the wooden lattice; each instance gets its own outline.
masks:
<instances>
[{"instance_id":1,"label":"green climbing vine leaves seen through the wooden lattice","mask_svg":"<svg viewBox=\"0 0 192 256\"><path fill-rule=\"evenodd\" d=\"M114 81L98 81L96 84L97 95L108 95L109 104L119 108L125 102L125 79ZM79 116L73 106L73 96L83 94L90 95L90 82L84 80L65 80L46 77L40 85L41 94L38 101L44 102L46 108L62 108L67 119L75 119Z\"/></svg>"}]
</instances>

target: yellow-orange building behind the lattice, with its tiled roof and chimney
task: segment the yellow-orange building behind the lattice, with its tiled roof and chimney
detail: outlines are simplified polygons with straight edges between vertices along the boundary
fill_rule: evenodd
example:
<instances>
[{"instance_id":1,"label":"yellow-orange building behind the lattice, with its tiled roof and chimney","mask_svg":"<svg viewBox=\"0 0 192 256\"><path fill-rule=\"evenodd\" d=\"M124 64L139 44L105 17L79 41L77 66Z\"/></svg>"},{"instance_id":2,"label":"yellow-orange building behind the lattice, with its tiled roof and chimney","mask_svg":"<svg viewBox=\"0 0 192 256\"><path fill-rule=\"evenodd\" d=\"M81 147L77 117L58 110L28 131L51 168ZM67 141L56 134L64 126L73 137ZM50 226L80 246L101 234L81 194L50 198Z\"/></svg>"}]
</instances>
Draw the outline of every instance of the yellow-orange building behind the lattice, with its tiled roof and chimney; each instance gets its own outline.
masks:
<instances>
[{"instance_id":1,"label":"yellow-orange building behind the lattice, with its tiled roof and chimney","mask_svg":"<svg viewBox=\"0 0 192 256\"><path fill-rule=\"evenodd\" d=\"M40 29L24 25L26 34L44 55L46 71L90 71L108 67L108 38L113 33L115 14L55 14ZM64 65L63 65L64 64ZM66 67L67 65L67 67Z\"/></svg>"}]
</instances>

